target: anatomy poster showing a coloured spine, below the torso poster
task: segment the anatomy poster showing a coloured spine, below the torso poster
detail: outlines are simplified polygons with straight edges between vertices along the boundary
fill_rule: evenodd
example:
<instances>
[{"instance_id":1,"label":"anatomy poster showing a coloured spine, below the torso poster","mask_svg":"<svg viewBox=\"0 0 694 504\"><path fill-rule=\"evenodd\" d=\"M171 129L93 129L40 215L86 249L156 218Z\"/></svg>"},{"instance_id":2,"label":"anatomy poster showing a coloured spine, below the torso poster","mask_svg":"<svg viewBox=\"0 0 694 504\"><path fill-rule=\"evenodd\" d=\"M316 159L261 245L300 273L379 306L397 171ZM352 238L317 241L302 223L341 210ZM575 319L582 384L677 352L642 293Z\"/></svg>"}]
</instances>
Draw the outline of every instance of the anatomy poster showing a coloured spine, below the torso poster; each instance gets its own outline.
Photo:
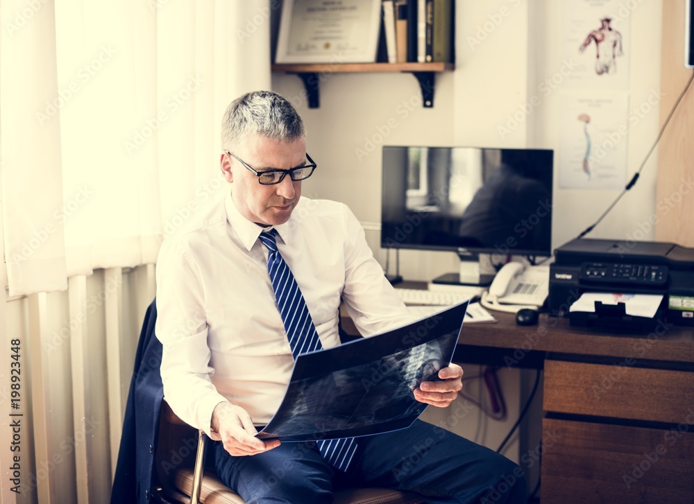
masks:
<instances>
[{"instance_id":1,"label":"anatomy poster showing a coloured spine, below the torso poster","mask_svg":"<svg viewBox=\"0 0 694 504\"><path fill-rule=\"evenodd\" d=\"M625 94L565 94L561 103L561 189L621 189L626 184Z\"/></svg>"}]
</instances>

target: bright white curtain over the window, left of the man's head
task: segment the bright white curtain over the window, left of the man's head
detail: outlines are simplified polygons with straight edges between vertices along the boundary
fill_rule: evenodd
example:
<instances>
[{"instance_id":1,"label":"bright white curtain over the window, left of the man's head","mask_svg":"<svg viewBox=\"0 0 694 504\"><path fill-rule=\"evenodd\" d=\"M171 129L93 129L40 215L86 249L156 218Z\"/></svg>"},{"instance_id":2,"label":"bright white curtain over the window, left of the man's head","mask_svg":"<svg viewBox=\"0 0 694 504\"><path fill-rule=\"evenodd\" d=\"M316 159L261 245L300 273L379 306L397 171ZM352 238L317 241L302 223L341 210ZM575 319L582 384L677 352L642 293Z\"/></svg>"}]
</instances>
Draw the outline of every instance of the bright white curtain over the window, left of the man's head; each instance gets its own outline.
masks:
<instances>
[{"instance_id":1,"label":"bright white curtain over the window, left of the man's head","mask_svg":"<svg viewBox=\"0 0 694 504\"><path fill-rule=\"evenodd\" d=\"M10 295L153 263L224 189L221 116L270 87L268 0L2 0Z\"/></svg>"}]
</instances>

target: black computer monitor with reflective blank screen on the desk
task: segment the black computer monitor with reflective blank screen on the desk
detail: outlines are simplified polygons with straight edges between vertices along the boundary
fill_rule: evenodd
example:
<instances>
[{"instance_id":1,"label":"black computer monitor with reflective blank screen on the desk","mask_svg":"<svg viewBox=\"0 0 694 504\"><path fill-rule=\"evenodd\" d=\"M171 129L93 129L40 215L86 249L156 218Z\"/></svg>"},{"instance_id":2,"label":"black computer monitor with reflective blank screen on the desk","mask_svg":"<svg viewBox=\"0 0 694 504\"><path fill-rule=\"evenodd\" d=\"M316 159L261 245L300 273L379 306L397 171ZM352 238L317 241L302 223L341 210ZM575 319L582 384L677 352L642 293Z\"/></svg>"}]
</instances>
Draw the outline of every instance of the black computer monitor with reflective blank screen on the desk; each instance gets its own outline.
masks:
<instances>
[{"instance_id":1,"label":"black computer monitor with reflective blank screen on the desk","mask_svg":"<svg viewBox=\"0 0 694 504\"><path fill-rule=\"evenodd\" d=\"M384 146L381 246L457 252L434 282L488 285L480 254L551 255L552 172L552 150Z\"/></svg>"}]
</instances>

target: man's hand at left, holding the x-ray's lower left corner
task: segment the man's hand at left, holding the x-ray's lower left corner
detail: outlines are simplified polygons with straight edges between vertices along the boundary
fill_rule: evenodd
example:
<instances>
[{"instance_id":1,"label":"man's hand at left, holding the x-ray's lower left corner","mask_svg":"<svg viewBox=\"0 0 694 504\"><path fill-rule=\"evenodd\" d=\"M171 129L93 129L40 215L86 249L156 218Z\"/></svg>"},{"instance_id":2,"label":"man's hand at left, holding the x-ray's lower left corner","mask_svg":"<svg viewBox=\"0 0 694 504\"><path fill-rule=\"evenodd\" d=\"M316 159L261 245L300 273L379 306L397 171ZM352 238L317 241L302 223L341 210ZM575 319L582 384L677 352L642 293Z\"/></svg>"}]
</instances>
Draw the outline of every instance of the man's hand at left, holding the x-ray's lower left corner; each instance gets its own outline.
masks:
<instances>
[{"instance_id":1,"label":"man's hand at left, holding the x-ray's lower left corner","mask_svg":"<svg viewBox=\"0 0 694 504\"><path fill-rule=\"evenodd\" d=\"M224 449L230 455L256 455L280 446L280 440L262 441L253 437L257 429L244 408L221 402L212 412L212 431L219 433Z\"/></svg>"}]
</instances>

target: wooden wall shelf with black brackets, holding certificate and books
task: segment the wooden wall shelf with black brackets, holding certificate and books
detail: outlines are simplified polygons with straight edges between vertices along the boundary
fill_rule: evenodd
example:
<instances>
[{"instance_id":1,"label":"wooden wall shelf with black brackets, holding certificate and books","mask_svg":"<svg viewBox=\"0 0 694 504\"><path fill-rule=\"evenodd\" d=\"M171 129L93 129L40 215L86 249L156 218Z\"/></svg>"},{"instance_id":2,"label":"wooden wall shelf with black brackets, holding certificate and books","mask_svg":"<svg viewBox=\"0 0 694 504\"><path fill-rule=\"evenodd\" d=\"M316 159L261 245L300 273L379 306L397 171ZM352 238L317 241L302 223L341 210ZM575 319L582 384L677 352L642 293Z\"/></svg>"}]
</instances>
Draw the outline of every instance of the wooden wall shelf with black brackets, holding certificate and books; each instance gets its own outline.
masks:
<instances>
[{"instance_id":1,"label":"wooden wall shelf with black brackets, holding certificate and books","mask_svg":"<svg viewBox=\"0 0 694 504\"><path fill-rule=\"evenodd\" d=\"M451 71L452 63L325 63L325 64L273 64L273 72L296 73L303 81L309 108L318 108L321 80L332 73L405 72L412 73L419 82L424 107L434 106L434 74Z\"/></svg>"}]
</instances>

